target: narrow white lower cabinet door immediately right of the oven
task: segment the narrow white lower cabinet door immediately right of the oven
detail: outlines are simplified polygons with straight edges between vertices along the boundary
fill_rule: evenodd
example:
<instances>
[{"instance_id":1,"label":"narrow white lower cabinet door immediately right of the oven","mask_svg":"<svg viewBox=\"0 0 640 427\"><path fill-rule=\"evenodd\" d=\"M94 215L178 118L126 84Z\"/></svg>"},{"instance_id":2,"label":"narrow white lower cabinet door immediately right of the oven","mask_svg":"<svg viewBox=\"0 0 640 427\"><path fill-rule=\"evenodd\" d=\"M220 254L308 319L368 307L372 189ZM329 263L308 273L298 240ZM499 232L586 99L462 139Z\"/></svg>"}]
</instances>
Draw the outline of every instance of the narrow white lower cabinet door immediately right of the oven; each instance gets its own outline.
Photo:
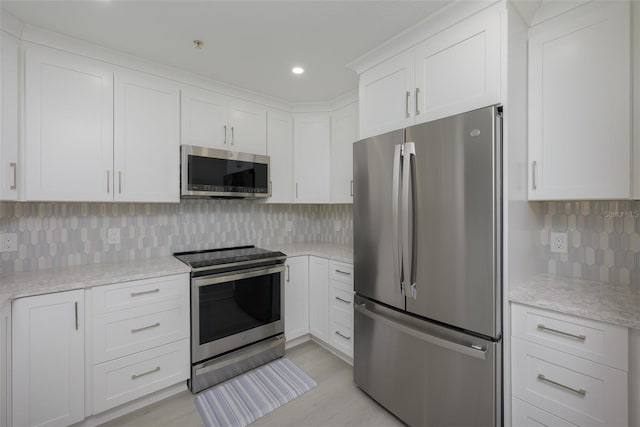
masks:
<instances>
[{"instance_id":1,"label":"narrow white lower cabinet door immediately right of the oven","mask_svg":"<svg viewBox=\"0 0 640 427\"><path fill-rule=\"evenodd\" d=\"M284 335L287 341L309 333L308 257L288 258L284 282Z\"/></svg>"}]
</instances>

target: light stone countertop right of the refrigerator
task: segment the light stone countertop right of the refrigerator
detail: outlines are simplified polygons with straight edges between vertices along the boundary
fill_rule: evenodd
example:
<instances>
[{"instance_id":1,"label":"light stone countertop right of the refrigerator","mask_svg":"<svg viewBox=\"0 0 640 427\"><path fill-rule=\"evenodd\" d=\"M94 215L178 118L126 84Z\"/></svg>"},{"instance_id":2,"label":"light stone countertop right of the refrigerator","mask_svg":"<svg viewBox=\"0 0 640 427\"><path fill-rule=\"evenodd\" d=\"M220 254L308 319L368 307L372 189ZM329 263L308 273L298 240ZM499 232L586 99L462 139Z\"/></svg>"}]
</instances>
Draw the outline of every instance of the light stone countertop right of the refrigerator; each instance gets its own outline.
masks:
<instances>
[{"instance_id":1,"label":"light stone countertop right of the refrigerator","mask_svg":"<svg viewBox=\"0 0 640 427\"><path fill-rule=\"evenodd\" d=\"M509 300L640 329L640 292L625 285L540 274L512 286Z\"/></svg>"}]
</instances>

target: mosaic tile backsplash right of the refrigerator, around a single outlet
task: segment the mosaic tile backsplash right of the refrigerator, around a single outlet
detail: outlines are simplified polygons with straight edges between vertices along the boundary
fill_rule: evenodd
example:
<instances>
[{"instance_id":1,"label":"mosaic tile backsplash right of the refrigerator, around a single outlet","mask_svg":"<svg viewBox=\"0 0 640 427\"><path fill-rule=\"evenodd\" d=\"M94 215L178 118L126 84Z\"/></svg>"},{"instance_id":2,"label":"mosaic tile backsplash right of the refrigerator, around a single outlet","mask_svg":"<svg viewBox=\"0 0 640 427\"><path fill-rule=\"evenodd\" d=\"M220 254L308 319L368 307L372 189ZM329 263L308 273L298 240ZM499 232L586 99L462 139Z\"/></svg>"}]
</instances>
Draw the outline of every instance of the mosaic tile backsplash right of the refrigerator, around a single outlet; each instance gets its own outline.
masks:
<instances>
[{"instance_id":1,"label":"mosaic tile backsplash right of the refrigerator, around a single outlet","mask_svg":"<svg viewBox=\"0 0 640 427\"><path fill-rule=\"evenodd\" d=\"M640 201L542 202L541 270L640 285ZM568 253L551 252L552 231L568 234Z\"/></svg>"}]
</instances>

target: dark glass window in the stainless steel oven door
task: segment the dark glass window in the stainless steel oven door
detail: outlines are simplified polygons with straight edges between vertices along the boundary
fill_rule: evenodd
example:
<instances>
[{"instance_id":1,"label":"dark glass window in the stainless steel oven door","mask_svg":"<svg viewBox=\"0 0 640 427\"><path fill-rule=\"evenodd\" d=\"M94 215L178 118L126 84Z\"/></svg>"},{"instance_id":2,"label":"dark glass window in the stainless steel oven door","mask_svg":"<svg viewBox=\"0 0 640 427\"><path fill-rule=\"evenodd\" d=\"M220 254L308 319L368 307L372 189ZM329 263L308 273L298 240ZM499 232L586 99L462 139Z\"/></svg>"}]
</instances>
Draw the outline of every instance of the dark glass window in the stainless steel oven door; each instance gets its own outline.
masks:
<instances>
[{"instance_id":1,"label":"dark glass window in the stainless steel oven door","mask_svg":"<svg viewBox=\"0 0 640 427\"><path fill-rule=\"evenodd\" d=\"M280 320L280 274L198 288L200 344Z\"/></svg>"}]
</instances>

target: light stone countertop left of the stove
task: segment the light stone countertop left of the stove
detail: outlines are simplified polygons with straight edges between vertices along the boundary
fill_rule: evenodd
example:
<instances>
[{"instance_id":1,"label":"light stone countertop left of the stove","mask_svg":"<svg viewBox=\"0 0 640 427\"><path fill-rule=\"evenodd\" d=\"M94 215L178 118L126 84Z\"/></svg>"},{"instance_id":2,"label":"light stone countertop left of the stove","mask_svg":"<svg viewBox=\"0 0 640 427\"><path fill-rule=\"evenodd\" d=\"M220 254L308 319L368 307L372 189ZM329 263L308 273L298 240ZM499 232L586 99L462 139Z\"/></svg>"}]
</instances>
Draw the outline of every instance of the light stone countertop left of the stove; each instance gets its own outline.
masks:
<instances>
[{"instance_id":1,"label":"light stone countertop left of the stove","mask_svg":"<svg viewBox=\"0 0 640 427\"><path fill-rule=\"evenodd\" d=\"M0 303L53 292L189 273L191 269L172 256L117 263L13 273L0 276Z\"/></svg>"}]
</instances>

